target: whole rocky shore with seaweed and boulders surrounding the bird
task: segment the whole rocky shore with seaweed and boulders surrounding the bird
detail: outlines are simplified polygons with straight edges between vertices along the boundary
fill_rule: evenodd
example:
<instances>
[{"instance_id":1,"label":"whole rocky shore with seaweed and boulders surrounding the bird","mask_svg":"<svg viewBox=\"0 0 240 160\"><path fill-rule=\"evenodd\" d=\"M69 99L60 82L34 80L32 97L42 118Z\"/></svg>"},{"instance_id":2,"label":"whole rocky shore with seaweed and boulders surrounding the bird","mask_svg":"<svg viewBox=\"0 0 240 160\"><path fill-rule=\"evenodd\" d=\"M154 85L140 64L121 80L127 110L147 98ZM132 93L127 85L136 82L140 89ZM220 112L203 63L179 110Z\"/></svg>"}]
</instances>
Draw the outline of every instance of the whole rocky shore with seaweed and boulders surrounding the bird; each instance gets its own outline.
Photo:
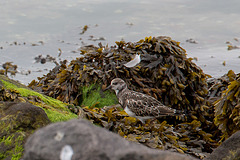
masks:
<instances>
[{"instance_id":1,"label":"whole rocky shore with seaweed and boulders surrounding the bird","mask_svg":"<svg viewBox=\"0 0 240 160\"><path fill-rule=\"evenodd\" d=\"M239 158L239 74L211 78L169 37L81 53L29 86L0 76L0 159ZM129 117L103 92L115 77L185 116Z\"/></svg>"}]
</instances>

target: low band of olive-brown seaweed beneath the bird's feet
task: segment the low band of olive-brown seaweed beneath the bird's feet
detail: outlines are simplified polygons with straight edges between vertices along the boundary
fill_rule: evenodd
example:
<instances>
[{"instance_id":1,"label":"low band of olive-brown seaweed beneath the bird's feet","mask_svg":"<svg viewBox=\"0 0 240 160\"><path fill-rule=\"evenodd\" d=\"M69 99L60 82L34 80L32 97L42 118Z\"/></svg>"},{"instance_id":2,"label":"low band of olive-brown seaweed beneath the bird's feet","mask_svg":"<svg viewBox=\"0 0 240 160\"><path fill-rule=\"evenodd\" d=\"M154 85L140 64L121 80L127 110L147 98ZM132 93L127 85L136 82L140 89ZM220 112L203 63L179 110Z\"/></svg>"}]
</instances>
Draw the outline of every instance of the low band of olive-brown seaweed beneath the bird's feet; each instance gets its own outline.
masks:
<instances>
[{"instance_id":1,"label":"low band of olive-brown seaweed beneath the bird's feet","mask_svg":"<svg viewBox=\"0 0 240 160\"><path fill-rule=\"evenodd\" d=\"M197 120L175 126L165 120L147 120L142 125L118 106L92 109L84 107L83 111L85 118L92 123L150 148L186 153L203 159L212 151L212 147L217 146L211 139L212 135L203 131L201 122Z\"/></svg>"}]
</instances>

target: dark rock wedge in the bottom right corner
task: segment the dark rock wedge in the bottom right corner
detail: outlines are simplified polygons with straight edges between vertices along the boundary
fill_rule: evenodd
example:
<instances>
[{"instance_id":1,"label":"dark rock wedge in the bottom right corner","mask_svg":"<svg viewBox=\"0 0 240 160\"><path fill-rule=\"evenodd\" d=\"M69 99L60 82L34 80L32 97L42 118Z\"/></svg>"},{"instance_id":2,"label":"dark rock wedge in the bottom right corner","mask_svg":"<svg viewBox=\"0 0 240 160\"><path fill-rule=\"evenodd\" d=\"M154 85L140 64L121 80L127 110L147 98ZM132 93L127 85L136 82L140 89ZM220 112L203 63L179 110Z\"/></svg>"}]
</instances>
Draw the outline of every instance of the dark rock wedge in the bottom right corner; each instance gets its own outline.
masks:
<instances>
[{"instance_id":1,"label":"dark rock wedge in the bottom right corner","mask_svg":"<svg viewBox=\"0 0 240 160\"><path fill-rule=\"evenodd\" d=\"M233 134L216 148L205 160L237 160L240 159L240 131Z\"/></svg>"}]
</instances>

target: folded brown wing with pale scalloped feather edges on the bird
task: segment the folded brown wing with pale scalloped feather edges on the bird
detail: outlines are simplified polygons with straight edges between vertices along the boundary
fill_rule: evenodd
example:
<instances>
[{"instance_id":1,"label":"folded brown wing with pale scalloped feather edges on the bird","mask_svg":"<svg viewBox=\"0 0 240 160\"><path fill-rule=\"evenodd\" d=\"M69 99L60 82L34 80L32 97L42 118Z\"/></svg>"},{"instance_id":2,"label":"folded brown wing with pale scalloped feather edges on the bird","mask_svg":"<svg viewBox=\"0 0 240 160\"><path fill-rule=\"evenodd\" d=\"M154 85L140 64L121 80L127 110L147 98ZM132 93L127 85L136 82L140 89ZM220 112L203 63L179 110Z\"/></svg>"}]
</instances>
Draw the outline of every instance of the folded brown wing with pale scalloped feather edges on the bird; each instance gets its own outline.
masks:
<instances>
[{"instance_id":1,"label":"folded brown wing with pale scalloped feather edges on the bird","mask_svg":"<svg viewBox=\"0 0 240 160\"><path fill-rule=\"evenodd\" d=\"M136 116L161 117L176 112L175 109L163 105L155 98L134 91L126 93L125 105L127 105Z\"/></svg>"}]
</instances>

